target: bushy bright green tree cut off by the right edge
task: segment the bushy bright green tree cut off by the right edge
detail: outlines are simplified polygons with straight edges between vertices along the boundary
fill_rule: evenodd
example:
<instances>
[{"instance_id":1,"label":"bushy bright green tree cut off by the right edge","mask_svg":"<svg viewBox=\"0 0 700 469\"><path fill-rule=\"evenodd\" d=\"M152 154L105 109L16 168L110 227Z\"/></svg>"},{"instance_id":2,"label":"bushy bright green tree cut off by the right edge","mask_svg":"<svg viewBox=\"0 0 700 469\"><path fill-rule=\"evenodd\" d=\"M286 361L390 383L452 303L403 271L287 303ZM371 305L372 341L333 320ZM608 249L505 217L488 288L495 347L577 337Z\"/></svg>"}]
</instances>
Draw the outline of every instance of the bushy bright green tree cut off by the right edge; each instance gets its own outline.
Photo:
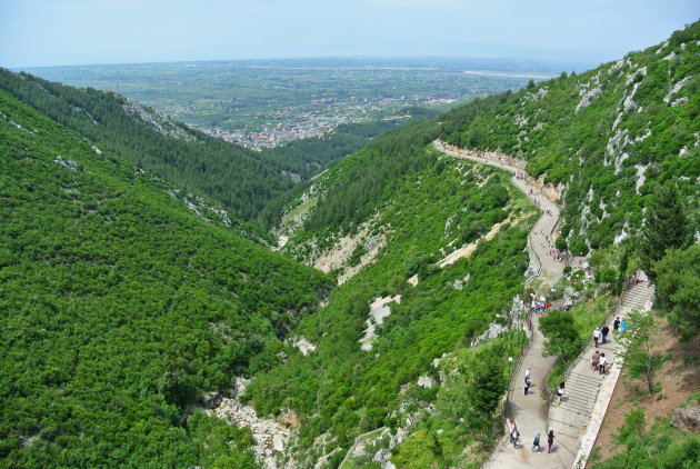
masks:
<instances>
[{"instance_id":1,"label":"bushy bright green tree cut off by the right edge","mask_svg":"<svg viewBox=\"0 0 700 469\"><path fill-rule=\"evenodd\" d=\"M668 311L681 337L700 330L700 245L669 252L653 266L657 301Z\"/></svg>"}]
</instances>

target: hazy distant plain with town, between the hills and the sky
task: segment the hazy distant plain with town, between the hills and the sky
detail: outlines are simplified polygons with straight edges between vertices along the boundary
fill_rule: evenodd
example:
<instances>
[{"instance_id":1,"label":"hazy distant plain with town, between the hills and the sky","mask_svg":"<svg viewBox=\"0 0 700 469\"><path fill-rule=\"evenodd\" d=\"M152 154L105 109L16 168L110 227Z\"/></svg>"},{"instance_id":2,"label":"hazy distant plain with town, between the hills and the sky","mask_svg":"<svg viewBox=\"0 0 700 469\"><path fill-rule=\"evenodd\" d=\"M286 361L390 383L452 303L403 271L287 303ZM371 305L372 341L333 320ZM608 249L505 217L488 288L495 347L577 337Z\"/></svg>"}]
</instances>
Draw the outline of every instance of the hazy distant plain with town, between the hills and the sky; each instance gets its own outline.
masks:
<instances>
[{"instance_id":1,"label":"hazy distant plain with town, between the hills and the sky","mask_svg":"<svg viewBox=\"0 0 700 469\"><path fill-rule=\"evenodd\" d=\"M343 123L403 119L558 76L568 64L459 58L322 58L30 69L109 89L251 149L320 137ZM570 68L569 68L570 69ZM474 72L477 70L477 72Z\"/></svg>"}]
</instances>

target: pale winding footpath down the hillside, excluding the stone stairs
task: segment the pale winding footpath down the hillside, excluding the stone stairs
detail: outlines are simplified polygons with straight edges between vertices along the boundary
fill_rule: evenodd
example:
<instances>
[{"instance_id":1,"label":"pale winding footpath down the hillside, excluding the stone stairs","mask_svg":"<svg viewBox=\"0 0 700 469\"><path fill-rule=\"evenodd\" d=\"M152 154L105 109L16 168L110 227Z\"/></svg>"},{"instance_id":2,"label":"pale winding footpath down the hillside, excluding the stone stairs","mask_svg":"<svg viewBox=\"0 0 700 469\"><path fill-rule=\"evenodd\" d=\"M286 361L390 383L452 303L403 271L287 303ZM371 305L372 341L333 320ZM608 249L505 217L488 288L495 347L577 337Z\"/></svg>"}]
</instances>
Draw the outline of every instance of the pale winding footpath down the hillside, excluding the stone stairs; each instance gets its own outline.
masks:
<instances>
[{"instance_id":1,"label":"pale winding footpath down the hillside, excluding the stone stairs","mask_svg":"<svg viewBox=\"0 0 700 469\"><path fill-rule=\"evenodd\" d=\"M542 210L542 214L532 227L530 231L530 256L536 256L541 263L540 275L538 280L541 280L543 285L553 286L562 276L564 263L557 262L552 256L549 255L549 242L551 241L551 233L559 221L559 207L550 201L542 192L533 184L531 179L524 172L524 162L512 160L508 161L503 158L484 158L482 154L471 152L469 150L448 147L440 140L433 142L433 147L451 157L464 158L468 160L477 161L483 164L490 164L497 168L504 169L513 174L511 182L524 193L530 200L532 200ZM513 166L512 163L521 163ZM518 178L517 173L520 172L524 178ZM551 216L547 214L547 211ZM532 340L528 352L522 359L522 368L517 369L512 376L510 389L513 390L512 398L510 399L510 408L513 416L513 420L518 425L518 430L521 435L521 440L518 449L513 449L511 445L500 445L493 452L490 461L487 463L489 468L498 469L513 469L513 468L562 468L570 467L562 463L557 456L547 453L536 453L531 451L531 442L537 433L541 435L542 448L547 448L547 429L548 429L548 412L547 402L542 399L542 389L548 386L544 382L544 377L552 369L554 365L554 358L542 357L544 349L544 338L539 329L539 316L534 315L532 318ZM530 392L524 396L524 369L529 368L532 376L532 385L530 386ZM578 450L578 448L577 448ZM572 458L573 459L573 458Z\"/></svg>"}]
</instances>

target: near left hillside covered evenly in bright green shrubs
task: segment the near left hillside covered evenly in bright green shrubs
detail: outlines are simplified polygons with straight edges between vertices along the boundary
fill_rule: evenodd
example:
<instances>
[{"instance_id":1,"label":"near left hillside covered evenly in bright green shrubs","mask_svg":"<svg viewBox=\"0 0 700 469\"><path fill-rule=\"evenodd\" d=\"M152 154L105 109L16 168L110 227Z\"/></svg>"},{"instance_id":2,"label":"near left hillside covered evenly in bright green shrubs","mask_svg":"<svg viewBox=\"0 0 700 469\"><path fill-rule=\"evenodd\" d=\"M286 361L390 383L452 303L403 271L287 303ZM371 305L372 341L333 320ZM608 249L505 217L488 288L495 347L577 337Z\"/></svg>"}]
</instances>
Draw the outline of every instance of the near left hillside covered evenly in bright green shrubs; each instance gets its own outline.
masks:
<instances>
[{"instance_id":1,"label":"near left hillside covered evenly in bright green shrubs","mask_svg":"<svg viewBox=\"0 0 700 469\"><path fill-rule=\"evenodd\" d=\"M0 167L0 467L253 467L188 406L268 368L329 280L6 91Z\"/></svg>"}]
</instances>

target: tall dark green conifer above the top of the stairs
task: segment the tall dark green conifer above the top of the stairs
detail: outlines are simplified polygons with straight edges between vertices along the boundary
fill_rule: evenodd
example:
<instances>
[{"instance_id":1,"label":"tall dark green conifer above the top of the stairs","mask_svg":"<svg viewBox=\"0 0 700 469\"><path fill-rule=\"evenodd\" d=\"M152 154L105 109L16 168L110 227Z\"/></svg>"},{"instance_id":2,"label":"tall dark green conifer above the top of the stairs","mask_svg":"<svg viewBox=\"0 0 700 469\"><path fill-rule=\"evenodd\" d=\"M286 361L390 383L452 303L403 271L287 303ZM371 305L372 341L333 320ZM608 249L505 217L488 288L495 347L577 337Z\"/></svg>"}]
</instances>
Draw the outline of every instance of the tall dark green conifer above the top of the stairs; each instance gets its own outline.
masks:
<instances>
[{"instance_id":1,"label":"tall dark green conifer above the top of the stairs","mask_svg":"<svg viewBox=\"0 0 700 469\"><path fill-rule=\"evenodd\" d=\"M692 229L686 208L671 181L659 186L647 211L647 221L639 242L640 266L650 280L656 281L653 263L668 249L683 249L692 242Z\"/></svg>"}]
</instances>

